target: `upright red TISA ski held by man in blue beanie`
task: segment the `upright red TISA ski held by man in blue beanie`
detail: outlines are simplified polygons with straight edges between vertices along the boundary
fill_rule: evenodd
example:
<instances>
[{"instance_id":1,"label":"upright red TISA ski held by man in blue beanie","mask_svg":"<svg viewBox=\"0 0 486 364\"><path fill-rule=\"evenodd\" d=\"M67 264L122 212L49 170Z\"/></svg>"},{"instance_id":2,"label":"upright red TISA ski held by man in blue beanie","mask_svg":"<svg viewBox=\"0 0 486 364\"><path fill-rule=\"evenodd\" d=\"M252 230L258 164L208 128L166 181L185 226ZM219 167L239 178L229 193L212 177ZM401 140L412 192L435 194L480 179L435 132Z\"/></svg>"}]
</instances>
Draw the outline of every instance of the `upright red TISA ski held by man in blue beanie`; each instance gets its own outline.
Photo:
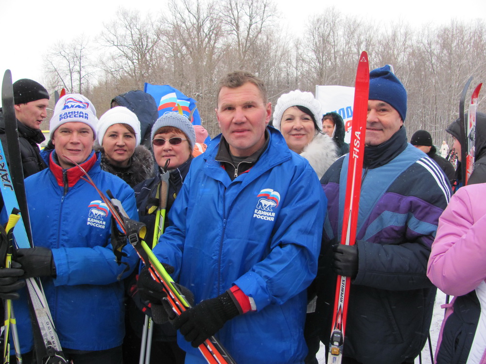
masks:
<instances>
[{"instance_id":1,"label":"upright red TISA ski held by man in blue beanie","mask_svg":"<svg viewBox=\"0 0 486 364\"><path fill-rule=\"evenodd\" d=\"M344 202L343 231L341 244L354 245L361 193L363 171L364 135L368 110L369 64L368 54L363 51L356 71L354 86L353 121L351 126L351 145L347 158L346 198ZM344 332L346 328L347 302L349 299L348 277L338 276L332 332L329 344L328 364L341 363L343 356Z\"/></svg>"}]
</instances>

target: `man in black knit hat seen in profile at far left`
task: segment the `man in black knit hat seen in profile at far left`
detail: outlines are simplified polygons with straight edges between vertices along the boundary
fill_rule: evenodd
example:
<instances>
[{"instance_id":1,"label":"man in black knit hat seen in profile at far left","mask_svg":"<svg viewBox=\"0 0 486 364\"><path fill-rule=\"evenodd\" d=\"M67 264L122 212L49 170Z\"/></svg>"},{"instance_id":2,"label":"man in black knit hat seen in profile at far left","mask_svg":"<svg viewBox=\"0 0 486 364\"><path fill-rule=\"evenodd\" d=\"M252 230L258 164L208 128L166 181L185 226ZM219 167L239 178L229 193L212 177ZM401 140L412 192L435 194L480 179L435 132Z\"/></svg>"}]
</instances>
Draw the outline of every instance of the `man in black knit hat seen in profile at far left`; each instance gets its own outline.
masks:
<instances>
[{"instance_id":1,"label":"man in black knit hat seen in profile at far left","mask_svg":"<svg viewBox=\"0 0 486 364\"><path fill-rule=\"evenodd\" d=\"M49 93L40 83L26 78L14 82L13 89L20 155L22 157L24 178L27 178L47 167L40 157L40 150L37 144L42 143L46 139L40 130L40 124L47 117ZM10 159L6 149L5 123L2 113L0 113L0 140L7 163L9 163Z\"/></svg>"}]
</instances>

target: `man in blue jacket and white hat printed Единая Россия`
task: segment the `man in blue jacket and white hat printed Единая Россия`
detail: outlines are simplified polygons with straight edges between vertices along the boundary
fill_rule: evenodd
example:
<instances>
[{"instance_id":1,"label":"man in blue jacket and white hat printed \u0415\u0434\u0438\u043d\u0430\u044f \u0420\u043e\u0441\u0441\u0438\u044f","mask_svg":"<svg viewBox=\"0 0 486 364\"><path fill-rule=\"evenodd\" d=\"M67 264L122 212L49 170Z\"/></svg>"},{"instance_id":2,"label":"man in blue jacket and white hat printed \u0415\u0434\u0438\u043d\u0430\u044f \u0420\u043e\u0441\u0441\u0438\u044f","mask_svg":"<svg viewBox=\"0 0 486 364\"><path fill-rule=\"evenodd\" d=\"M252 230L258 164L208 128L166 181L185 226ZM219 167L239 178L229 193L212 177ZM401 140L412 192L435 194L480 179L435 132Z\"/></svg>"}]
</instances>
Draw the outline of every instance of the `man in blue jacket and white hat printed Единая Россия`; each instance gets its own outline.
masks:
<instances>
[{"instance_id":1,"label":"man in blue jacket and white hat printed \u0415\u0434\u0438\u043d\u0430\u044f \u0420\u043e\u0441\u0441\u0438\u044f","mask_svg":"<svg viewBox=\"0 0 486 364\"><path fill-rule=\"evenodd\" d=\"M120 199L137 218L133 190L100 168L92 147L96 111L79 94L61 98L50 123L53 150L43 151L47 169L25 180L35 248L19 248L14 260L22 278L41 277L53 323L67 359L121 364L123 281L137 265L132 246L118 265L110 244L111 215L93 186L71 161L83 166L102 191ZM24 363L31 363L33 336L25 288L14 301Z\"/></svg>"}]
</instances>

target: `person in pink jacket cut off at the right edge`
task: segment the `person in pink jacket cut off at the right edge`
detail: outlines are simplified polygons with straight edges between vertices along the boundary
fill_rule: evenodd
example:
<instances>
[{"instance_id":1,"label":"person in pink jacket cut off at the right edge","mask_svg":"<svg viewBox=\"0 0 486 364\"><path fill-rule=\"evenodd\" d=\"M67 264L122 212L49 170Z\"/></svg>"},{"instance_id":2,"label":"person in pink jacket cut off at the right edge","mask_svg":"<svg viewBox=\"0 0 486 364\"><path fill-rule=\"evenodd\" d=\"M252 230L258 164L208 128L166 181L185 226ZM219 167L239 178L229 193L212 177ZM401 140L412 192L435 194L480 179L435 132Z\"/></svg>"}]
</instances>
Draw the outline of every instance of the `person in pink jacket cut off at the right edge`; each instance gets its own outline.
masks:
<instances>
[{"instance_id":1,"label":"person in pink jacket cut off at the right edge","mask_svg":"<svg viewBox=\"0 0 486 364\"><path fill-rule=\"evenodd\" d=\"M439 218L427 277L455 296L446 308L436 364L486 364L486 183L460 188Z\"/></svg>"}]
</instances>

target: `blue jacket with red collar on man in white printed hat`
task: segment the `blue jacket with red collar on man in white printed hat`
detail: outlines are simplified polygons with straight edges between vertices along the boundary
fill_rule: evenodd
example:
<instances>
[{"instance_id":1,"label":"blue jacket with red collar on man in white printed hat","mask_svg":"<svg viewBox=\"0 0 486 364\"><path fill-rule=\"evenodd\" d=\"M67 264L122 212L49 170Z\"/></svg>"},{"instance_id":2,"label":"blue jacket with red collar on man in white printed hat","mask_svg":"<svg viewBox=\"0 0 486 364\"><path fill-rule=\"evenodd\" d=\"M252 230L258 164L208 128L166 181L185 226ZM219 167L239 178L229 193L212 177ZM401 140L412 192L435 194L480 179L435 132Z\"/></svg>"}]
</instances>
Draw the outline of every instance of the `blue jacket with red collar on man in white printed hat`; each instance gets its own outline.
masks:
<instances>
[{"instance_id":1,"label":"blue jacket with red collar on man in white printed hat","mask_svg":"<svg viewBox=\"0 0 486 364\"><path fill-rule=\"evenodd\" d=\"M42 284L61 346L77 350L120 346L124 336L122 279L137 265L137 254L130 245L123 248L127 256L122 261L129 264L129 270L121 275L126 265L115 261L106 205L94 187L80 179L77 167L62 170L53 165L52 153L43 152L50 166L27 178L25 189L34 244L51 248L56 266L57 277L43 278ZM133 189L102 171L94 152L83 165L90 164L88 174L98 188L109 189L127 214L137 219ZM25 288L14 301L14 309L22 353L29 352L33 337Z\"/></svg>"}]
</instances>

